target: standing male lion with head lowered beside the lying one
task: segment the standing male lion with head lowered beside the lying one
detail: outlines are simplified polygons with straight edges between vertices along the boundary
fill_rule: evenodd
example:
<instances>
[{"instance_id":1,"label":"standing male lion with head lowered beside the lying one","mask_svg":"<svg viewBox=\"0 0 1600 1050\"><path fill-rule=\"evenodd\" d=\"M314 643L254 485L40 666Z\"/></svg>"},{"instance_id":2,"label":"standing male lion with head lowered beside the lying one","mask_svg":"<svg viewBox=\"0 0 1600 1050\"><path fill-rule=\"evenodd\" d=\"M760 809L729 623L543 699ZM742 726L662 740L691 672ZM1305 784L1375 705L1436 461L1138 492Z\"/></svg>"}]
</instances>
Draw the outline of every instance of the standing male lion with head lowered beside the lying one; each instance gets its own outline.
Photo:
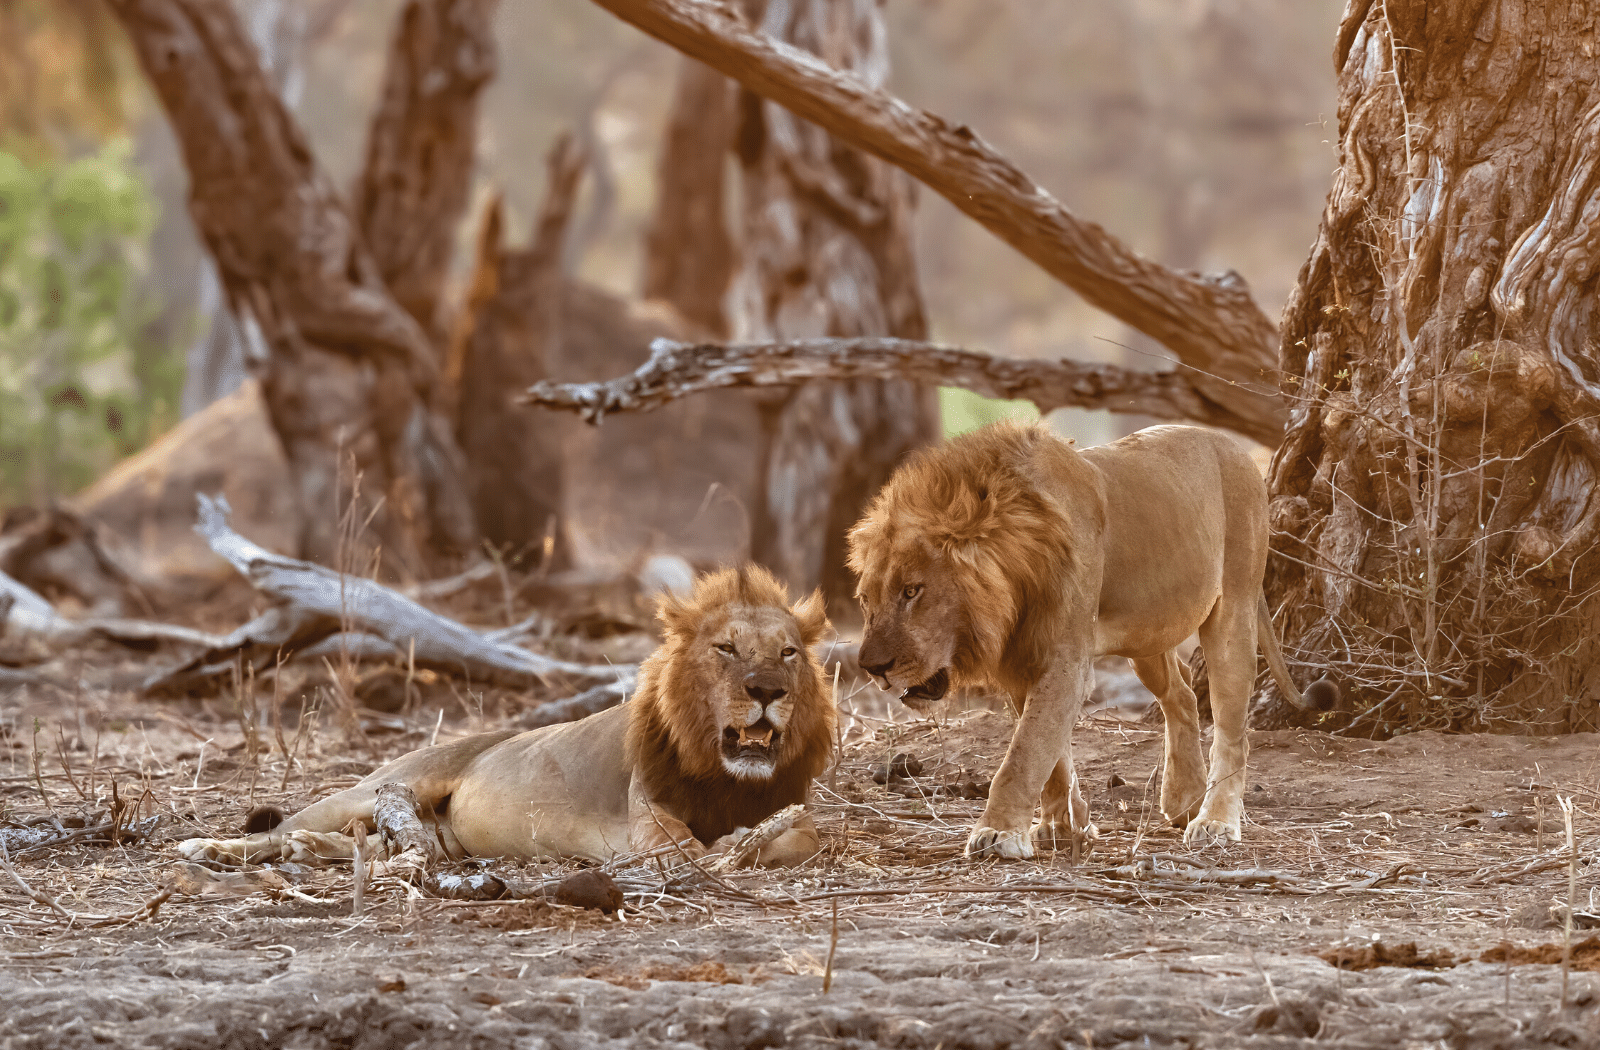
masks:
<instances>
[{"instance_id":1,"label":"standing male lion with head lowered beside the lying one","mask_svg":"<svg viewBox=\"0 0 1600 1050\"><path fill-rule=\"evenodd\" d=\"M1166 717L1162 813L1184 840L1237 842L1256 648L1290 680L1261 581L1267 491L1230 437L1155 426L1078 451L1002 423L904 463L850 531L866 616L861 667L923 711L990 685L1019 712L966 855L1024 860L1099 836L1072 767L1094 659L1126 656ZM1176 647L1211 675L1211 771ZM1042 804L1037 828L1035 807Z\"/></svg>"}]
</instances>

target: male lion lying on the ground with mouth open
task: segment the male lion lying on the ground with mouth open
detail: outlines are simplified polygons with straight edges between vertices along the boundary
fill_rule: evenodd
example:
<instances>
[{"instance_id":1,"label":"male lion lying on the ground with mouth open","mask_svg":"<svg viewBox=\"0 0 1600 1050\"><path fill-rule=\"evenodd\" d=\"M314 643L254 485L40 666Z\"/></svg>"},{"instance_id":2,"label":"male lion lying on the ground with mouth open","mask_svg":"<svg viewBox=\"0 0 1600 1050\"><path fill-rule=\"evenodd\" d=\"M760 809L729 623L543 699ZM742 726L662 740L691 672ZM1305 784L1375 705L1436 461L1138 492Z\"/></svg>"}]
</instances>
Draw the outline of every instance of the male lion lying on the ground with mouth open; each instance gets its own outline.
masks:
<instances>
[{"instance_id":1,"label":"male lion lying on the ground with mouth open","mask_svg":"<svg viewBox=\"0 0 1600 1050\"><path fill-rule=\"evenodd\" d=\"M674 842L698 856L806 802L835 717L811 651L827 627L821 594L790 608L766 570L725 570L688 600L662 597L658 616L666 639L621 707L413 751L269 832L179 848L192 860L275 858L296 831L371 828L378 788L395 781L416 792L451 856L605 861ZM802 815L757 863L795 864L816 850Z\"/></svg>"}]
</instances>

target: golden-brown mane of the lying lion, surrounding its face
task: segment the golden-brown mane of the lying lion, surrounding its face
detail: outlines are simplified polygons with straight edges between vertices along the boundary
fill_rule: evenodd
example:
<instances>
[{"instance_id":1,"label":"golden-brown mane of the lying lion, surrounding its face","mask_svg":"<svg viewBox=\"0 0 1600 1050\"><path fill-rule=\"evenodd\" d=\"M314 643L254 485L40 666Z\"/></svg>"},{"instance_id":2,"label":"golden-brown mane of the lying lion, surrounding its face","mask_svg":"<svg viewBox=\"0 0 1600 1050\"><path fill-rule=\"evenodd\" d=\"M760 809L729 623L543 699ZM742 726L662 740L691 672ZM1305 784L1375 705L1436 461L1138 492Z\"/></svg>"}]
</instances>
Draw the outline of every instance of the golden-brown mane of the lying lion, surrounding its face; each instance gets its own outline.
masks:
<instances>
[{"instance_id":1,"label":"golden-brown mane of the lying lion, surrounding its face","mask_svg":"<svg viewBox=\"0 0 1600 1050\"><path fill-rule=\"evenodd\" d=\"M779 746L771 779L734 778L717 751L717 727L707 696L714 682L691 659L698 639L741 608L778 608L795 618L802 666L795 675L794 714ZM749 565L702 576L688 599L662 595L656 616L666 627L661 648L638 669L629 699L627 752L634 775L653 799L677 813L704 844L752 828L786 805L805 802L811 778L827 767L835 711L813 647L827 629L821 592L789 605L787 589L765 568Z\"/></svg>"}]
</instances>

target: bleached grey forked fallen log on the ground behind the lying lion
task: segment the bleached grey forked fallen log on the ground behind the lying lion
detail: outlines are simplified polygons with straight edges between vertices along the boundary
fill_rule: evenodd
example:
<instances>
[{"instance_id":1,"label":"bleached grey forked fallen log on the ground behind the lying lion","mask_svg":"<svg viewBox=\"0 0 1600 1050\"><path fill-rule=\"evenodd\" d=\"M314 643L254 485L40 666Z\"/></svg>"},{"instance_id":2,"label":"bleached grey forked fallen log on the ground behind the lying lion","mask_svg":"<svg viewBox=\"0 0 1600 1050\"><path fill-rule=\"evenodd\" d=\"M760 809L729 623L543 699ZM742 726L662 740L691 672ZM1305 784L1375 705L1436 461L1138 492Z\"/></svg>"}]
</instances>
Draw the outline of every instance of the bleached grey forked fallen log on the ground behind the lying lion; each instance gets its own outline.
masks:
<instances>
[{"instance_id":1,"label":"bleached grey forked fallen log on the ground behind the lying lion","mask_svg":"<svg viewBox=\"0 0 1600 1050\"><path fill-rule=\"evenodd\" d=\"M317 643L358 656L405 656L419 667L478 680L526 682L550 675L616 680L619 672L632 672L632 667L541 656L446 619L371 579L274 554L229 528L226 499L197 498L200 523L195 531L277 605L194 659L152 677L146 691L184 688L194 680L226 672L240 656L259 659L285 650L309 650Z\"/></svg>"}]
</instances>

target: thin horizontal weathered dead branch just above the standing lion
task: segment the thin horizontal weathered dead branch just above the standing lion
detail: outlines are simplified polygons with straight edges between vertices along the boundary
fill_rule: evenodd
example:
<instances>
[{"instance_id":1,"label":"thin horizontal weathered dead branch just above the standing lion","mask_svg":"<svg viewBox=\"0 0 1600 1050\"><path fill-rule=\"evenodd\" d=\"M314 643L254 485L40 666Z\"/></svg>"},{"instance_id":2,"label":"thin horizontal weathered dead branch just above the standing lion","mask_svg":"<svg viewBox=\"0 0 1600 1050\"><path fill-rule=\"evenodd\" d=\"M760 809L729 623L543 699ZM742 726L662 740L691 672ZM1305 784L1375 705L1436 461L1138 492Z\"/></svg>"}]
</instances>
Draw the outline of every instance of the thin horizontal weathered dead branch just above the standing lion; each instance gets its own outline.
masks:
<instances>
[{"instance_id":1,"label":"thin horizontal weathered dead branch just above the standing lion","mask_svg":"<svg viewBox=\"0 0 1600 1050\"><path fill-rule=\"evenodd\" d=\"M611 411L648 411L718 387L770 387L811 379L914 379L986 397L1022 399L1040 411L1110 411L1189 419L1248 434L1250 421L1202 395L1178 371L1133 371L1070 360L1013 360L914 339L795 339L750 346L656 339L650 360L608 383L536 383L526 405L565 408L597 423Z\"/></svg>"}]
</instances>

